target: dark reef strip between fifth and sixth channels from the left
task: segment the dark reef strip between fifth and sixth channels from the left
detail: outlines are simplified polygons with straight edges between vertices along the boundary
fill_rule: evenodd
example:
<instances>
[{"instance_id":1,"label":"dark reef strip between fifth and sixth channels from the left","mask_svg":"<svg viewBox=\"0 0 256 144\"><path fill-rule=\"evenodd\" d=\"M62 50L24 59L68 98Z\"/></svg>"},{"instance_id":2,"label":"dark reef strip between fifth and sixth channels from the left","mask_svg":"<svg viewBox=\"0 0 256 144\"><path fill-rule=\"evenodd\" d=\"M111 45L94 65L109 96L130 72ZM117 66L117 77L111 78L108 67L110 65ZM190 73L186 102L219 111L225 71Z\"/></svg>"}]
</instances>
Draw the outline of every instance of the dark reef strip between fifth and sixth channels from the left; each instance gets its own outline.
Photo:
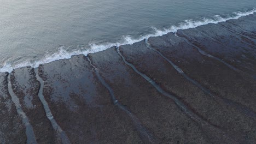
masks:
<instances>
[{"instance_id":1,"label":"dark reef strip between fifth and sixth channels from the left","mask_svg":"<svg viewBox=\"0 0 256 144\"><path fill-rule=\"evenodd\" d=\"M149 38L148 42L154 49L178 65L191 79L201 83L214 94L256 111L254 106L256 83L253 77L238 73L222 61L201 55L195 47L174 34L170 33L161 38Z\"/></svg>"}]
</instances>

